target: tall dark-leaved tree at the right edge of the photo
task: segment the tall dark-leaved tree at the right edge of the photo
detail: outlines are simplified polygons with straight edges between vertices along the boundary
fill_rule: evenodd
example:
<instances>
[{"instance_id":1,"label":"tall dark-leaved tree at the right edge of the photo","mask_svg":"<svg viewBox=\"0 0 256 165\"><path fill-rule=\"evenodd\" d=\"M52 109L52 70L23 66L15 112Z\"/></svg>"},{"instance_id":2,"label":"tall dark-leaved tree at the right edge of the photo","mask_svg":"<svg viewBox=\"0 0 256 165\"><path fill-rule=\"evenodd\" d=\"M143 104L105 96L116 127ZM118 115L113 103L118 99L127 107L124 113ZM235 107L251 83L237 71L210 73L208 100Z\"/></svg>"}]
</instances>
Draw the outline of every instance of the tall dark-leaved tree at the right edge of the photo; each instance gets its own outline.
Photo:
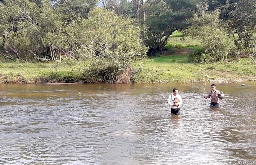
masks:
<instances>
[{"instance_id":1,"label":"tall dark-leaved tree at the right edge of the photo","mask_svg":"<svg viewBox=\"0 0 256 165\"><path fill-rule=\"evenodd\" d=\"M228 22L236 47L247 52L255 64L256 0L230 0L221 10L221 18Z\"/></svg>"}]
</instances>

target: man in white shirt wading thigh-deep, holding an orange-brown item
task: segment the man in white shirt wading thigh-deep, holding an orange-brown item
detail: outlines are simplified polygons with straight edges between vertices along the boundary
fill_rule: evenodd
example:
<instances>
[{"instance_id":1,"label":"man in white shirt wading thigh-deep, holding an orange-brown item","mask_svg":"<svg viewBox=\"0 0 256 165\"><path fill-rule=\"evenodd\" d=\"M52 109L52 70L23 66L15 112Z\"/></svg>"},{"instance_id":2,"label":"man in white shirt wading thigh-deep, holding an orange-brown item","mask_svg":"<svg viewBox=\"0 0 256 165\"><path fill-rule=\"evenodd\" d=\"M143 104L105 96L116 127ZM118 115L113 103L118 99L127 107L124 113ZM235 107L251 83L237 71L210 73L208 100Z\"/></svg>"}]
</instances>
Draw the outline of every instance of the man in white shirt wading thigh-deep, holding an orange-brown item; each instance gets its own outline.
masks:
<instances>
[{"instance_id":1,"label":"man in white shirt wading thigh-deep, holding an orange-brown item","mask_svg":"<svg viewBox=\"0 0 256 165\"><path fill-rule=\"evenodd\" d=\"M178 94L178 90L176 88L172 90L172 94L168 98L168 104L171 105L172 114L179 114L182 104L182 98L181 95Z\"/></svg>"}]
</instances>

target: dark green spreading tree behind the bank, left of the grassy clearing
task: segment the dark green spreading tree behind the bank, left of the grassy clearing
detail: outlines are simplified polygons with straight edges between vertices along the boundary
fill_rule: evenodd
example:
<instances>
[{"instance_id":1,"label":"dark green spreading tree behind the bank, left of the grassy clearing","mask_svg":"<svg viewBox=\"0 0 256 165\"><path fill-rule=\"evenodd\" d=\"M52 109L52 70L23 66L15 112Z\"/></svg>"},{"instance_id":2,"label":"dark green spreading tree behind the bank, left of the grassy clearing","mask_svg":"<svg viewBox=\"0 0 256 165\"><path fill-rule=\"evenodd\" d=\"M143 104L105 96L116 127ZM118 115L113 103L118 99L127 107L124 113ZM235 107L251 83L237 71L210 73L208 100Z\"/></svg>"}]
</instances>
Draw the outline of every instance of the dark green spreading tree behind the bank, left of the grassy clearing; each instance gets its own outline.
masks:
<instances>
[{"instance_id":1,"label":"dark green spreading tree behind the bank, left of the grassy clearing","mask_svg":"<svg viewBox=\"0 0 256 165\"><path fill-rule=\"evenodd\" d=\"M151 52L161 52L175 30L188 27L192 16L190 0L153 0L146 10L146 43Z\"/></svg>"}]
</instances>

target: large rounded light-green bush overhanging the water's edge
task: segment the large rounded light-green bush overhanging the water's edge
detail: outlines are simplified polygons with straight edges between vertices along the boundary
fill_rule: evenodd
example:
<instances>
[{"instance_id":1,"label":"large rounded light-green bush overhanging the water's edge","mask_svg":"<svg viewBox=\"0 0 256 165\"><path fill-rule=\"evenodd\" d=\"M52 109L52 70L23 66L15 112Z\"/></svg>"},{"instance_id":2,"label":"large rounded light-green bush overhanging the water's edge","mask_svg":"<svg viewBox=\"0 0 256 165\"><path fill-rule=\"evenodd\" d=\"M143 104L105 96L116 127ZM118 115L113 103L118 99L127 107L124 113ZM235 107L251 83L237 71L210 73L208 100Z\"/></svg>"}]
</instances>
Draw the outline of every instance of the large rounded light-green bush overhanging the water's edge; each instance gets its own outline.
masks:
<instances>
[{"instance_id":1,"label":"large rounded light-green bush overhanging the water's edge","mask_svg":"<svg viewBox=\"0 0 256 165\"><path fill-rule=\"evenodd\" d=\"M115 82L135 58L146 57L147 47L139 38L140 32L132 19L95 8L87 20L70 27L67 34L76 45L77 57L89 64L86 77L94 77L95 82Z\"/></svg>"}]
</instances>

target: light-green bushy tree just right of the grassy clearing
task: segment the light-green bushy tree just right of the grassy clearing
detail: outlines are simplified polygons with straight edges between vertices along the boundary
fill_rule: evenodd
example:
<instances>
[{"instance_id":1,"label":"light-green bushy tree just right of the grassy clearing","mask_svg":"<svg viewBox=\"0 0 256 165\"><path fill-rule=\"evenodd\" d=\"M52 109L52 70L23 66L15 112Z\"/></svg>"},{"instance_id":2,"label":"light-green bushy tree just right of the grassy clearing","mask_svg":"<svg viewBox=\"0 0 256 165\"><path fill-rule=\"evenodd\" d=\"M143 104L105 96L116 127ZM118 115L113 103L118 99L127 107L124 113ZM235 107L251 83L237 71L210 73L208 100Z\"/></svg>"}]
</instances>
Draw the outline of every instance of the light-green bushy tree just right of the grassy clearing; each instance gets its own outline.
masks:
<instances>
[{"instance_id":1,"label":"light-green bushy tree just right of the grassy clearing","mask_svg":"<svg viewBox=\"0 0 256 165\"><path fill-rule=\"evenodd\" d=\"M205 3L197 5L198 12L193 15L191 19L193 25L189 29L191 37L201 41L205 52L195 52L190 60L197 62L228 61L230 52L234 49L233 39L226 35L228 32L221 24L219 10L214 12L207 12L206 10L207 5ZM198 59L194 59L196 57ZM206 59L202 60L202 58Z\"/></svg>"}]
</instances>

